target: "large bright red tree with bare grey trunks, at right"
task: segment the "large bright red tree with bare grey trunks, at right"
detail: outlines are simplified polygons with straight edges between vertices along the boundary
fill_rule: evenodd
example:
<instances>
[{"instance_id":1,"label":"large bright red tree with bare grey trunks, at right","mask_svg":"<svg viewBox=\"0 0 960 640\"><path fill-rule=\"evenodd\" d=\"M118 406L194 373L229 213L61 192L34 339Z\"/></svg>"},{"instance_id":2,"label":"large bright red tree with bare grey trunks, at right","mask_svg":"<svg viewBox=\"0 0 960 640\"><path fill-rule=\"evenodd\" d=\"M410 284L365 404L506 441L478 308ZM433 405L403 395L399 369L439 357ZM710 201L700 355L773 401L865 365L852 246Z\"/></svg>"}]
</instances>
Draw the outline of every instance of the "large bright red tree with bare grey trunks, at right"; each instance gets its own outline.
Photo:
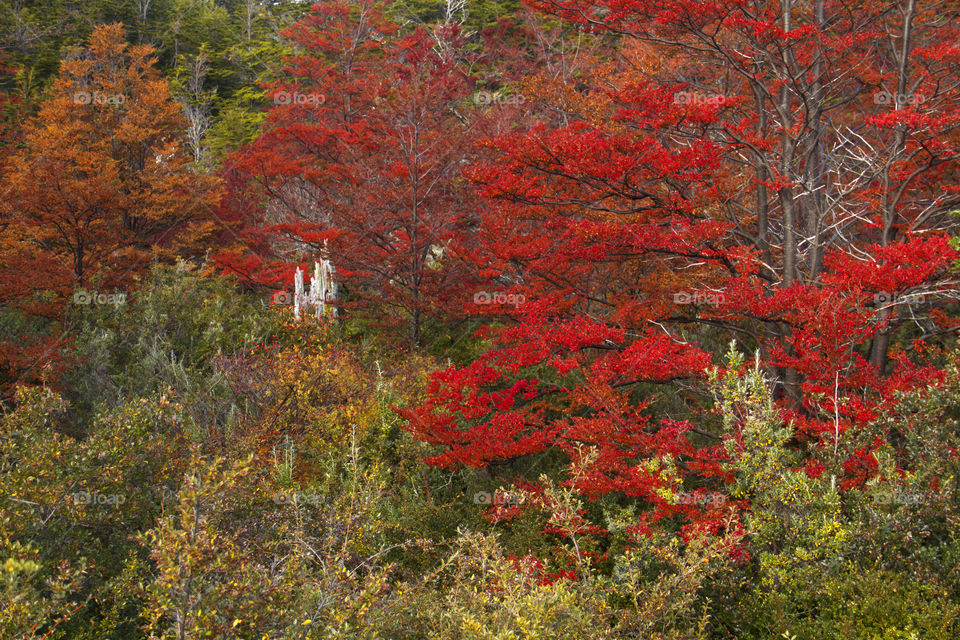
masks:
<instances>
[{"instance_id":1,"label":"large bright red tree with bare grey trunks, at right","mask_svg":"<svg viewBox=\"0 0 960 640\"><path fill-rule=\"evenodd\" d=\"M814 443L938 377L924 340L957 328L955 20L912 0L538 4L618 34L630 64L476 169L500 299L525 302L406 413L431 462L559 450L587 494L695 515L662 497L664 470L722 477L724 436L677 418L703 410L691 391L731 337Z\"/></svg>"}]
</instances>

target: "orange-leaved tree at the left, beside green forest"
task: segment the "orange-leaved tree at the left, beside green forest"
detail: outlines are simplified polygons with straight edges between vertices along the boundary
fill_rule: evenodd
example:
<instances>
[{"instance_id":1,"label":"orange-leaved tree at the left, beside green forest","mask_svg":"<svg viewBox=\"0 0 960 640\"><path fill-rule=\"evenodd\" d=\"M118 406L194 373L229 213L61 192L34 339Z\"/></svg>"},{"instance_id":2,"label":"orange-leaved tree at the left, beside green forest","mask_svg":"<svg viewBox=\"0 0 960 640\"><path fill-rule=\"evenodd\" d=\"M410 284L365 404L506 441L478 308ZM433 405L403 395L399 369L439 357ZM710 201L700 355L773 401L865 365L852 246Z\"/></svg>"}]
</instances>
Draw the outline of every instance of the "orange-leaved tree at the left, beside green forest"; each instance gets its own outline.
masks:
<instances>
[{"instance_id":1,"label":"orange-leaved tree at the left, beside green forest","mask_svg":"<svg viewBox=\"0 0 960 640\"><path fill-rule=\"evenodd\" d=\"M103 25L61 64L4 176L6 304L53 315L74 288L124 287L152 258L202 248L218 183L192 169L152 51Z\"/></svg>"}]
</instances>

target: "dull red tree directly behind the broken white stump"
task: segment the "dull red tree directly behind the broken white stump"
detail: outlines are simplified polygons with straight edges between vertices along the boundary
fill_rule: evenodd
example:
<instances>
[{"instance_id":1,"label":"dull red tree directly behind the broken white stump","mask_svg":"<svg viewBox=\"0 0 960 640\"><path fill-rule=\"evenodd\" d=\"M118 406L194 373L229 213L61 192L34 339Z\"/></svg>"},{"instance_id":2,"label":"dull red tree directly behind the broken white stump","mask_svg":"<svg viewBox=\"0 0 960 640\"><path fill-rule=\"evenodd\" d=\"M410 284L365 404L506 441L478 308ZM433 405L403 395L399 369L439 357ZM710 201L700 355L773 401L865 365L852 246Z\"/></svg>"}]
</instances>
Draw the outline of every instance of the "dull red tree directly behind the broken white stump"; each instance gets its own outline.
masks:
<instances>
[{"instance_id":1,"label":"dull red tree directly behind the broken white stump","mask_svg":"<svg viewBox=\"0 0 960 640\"><path fill-rule=\"evenodd\" d=\"M456 27L401 35L374 3L324 2L286 35L300 53L229 166L248 251L221 262L289 286L294 265L328 257L348 313L419 345L469 284L455 252L472 208Z\"/></svg>"}]
</instances>

